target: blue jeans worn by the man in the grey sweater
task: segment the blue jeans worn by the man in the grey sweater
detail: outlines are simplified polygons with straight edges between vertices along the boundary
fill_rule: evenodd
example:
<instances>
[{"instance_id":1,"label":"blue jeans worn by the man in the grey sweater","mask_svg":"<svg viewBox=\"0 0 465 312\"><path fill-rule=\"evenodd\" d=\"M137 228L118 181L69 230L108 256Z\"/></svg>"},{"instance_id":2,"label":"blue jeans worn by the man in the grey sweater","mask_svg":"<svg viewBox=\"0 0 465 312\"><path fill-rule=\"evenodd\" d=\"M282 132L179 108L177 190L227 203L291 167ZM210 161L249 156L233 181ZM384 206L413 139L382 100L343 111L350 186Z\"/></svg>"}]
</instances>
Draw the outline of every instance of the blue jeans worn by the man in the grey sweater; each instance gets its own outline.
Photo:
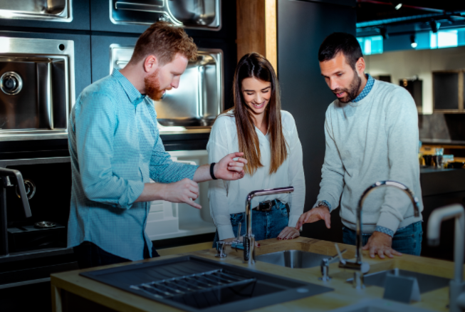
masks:
<instances>
[{"instance_id":1,"label":"blue jeans worn by the man in the grey sweater","mask_svg":"<svg viewBox=\"0 0 465 312\"><path fill-rule=\"evenodd\" d=\"M362 234L362 246L367 244L371 234ZM415 222L407 227L398 229L392 237L392 249L402 254L412 254L419 256L422 251L422 222ZM352 229L343 227L344 244L355 245L357 234Z\"/></svg>"}]
</instances>

